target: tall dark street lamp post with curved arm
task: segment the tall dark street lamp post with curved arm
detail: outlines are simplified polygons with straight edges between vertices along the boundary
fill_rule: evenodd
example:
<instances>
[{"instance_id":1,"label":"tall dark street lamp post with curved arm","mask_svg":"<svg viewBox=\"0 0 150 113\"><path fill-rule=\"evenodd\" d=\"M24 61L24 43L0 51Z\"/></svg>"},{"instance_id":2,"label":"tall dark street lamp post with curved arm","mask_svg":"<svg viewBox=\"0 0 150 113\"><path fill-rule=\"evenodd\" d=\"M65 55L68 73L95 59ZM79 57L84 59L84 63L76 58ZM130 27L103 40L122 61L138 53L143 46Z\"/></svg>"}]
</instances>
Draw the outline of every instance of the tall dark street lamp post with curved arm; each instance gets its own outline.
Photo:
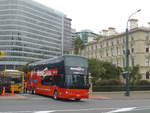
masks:
<instances>
[{"instance_id":1,"label":"tall dark street lamp post with curved arm","mask_svg":"<svg viewBox=\"0 0 150 113\"><path fill-rule=\"evenodd\" d=\"M129 89L129 44L128 44L128 39L129 39L129 31L128 31L128 22L130 20L130 18L135 15L136 13L140 12L141 9L137 10L136 12L132 13L128 20L127 20L127 26L126 26L126 51L125 51L125 58L126 58L126 92L125 92L125 96L130 96L130 89Z\"/></svg>"}]
</instances>

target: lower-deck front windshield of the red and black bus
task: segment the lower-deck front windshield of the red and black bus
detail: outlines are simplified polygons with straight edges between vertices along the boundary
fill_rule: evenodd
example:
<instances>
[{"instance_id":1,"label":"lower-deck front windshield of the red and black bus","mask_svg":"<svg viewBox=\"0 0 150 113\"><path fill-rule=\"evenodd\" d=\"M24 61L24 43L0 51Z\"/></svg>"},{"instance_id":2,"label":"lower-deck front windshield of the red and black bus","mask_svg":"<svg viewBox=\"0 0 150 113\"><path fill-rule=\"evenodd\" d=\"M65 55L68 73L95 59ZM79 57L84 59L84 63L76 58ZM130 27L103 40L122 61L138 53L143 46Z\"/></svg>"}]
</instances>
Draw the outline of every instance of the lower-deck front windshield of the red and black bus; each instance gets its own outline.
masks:
<instances>
[{"instance_id":1,"label":"lower-deck front windshield of the red and black bus","mask_svg":"<svg viewBox=\"0 0 150 113\"><path fill-rule=\"evenodd\" d=\"M88 89L88 78L84 75L68 75L66 76L66 87L74 89Z\"/></svg>"}]
</instances>

